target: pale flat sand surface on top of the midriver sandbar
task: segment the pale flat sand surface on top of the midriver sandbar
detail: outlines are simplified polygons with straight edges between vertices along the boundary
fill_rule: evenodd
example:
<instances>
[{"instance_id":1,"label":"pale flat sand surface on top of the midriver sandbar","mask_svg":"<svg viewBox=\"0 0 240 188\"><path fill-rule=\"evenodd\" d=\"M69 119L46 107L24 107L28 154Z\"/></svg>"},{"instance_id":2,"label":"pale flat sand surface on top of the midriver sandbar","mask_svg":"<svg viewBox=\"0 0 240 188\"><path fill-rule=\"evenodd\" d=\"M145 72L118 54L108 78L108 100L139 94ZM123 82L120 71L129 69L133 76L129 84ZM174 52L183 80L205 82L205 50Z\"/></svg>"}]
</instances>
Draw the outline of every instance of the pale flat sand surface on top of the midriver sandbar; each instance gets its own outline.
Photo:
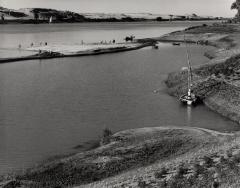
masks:
<instances>
[{"instance_id":1,"label":"pale flat sand surface on top of the midriver sandbar","mask_svg":"<svg viewBox=\"0 0 240 188\"><path fill-rule=\"evenodd\" d=\"M111 49L111 48L133 48L137 47L138 43L117 43L117 44L74 44L74 45L47 45L47 46L34 46L27 48L29 51L48 51L48 52L59 52L64 55L71 55L80 52L101 50L101 49Z\"/></svg>"}]
</instances>

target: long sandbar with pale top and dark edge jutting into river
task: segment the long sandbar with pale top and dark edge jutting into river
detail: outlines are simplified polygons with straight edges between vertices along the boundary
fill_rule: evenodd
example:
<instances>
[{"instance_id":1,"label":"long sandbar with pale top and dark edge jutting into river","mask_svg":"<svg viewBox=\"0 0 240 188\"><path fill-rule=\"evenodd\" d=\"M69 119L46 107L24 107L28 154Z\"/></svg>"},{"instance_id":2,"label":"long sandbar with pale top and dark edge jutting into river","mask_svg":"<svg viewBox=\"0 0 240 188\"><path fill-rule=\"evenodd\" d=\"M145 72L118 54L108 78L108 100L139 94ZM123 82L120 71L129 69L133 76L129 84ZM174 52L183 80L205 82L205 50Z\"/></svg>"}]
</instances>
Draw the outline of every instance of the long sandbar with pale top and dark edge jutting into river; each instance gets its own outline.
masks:
<instances>
[{"instance_id":1,"label":"long sandbar with pale top and dark edge jutting into river","mask_svg":"<svg viewBox=\"0 0 240 188\"><path fill-rule=\"evenodd\" d=\"M80 57L89 55L101 55L107 53L118 53L131 50L138 50L147 46L154 45L154 41L116 43L116 44L79 44L79 45L45 45L27 48L34 55L0 58L0 64L17 61L42 60L53 58Z\"/></svg>"}]
</instances>

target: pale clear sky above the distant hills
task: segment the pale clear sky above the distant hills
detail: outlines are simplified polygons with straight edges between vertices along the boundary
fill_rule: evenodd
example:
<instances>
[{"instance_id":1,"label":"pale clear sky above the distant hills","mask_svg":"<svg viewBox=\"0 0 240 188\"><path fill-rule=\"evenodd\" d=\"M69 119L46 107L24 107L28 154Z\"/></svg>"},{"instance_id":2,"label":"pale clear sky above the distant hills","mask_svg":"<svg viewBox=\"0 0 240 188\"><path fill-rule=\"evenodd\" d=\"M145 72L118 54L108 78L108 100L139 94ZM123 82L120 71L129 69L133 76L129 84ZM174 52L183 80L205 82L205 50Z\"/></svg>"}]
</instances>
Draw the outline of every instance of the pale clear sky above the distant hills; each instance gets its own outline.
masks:
<instances>
[{"instance_id":1,"label":"pale clear sky above the distant hills","mask_svg":"<svg viewBox=\"0 0 240 188\"><path fill-rule=\"evenodd\" d=\"M53 8L83 13L159 13L232 17L234 0L0 0L6 8Z\"/></svg>"}]
</instances>

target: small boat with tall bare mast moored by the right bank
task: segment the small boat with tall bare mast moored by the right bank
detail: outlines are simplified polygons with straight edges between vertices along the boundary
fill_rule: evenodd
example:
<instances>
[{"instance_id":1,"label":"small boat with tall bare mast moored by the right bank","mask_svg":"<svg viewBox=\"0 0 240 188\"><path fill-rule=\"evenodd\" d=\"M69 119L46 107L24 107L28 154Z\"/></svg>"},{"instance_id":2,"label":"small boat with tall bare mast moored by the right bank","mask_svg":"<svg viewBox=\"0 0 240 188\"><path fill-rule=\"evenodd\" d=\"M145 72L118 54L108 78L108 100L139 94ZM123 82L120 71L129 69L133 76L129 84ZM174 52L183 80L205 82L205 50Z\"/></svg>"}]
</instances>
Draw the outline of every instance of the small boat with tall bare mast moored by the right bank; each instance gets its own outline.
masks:
<instances>
[{"instance_id":1,"label":"small boat with tall bare mast moored by the right bank","mask_svg":"<svg viewBox=\"0 0 240 188\"><path fill-rule=\"evenodd\" d=\"M187 94L182 95L179 100L182 103L191 106L193 104L196 104L197 97L192 92L192 67L191 67L191 62L190 62L187 42L186 42L186 39L185 39L185 34L184 34L184 41L185 41L185 45L186 45L187 63L188 63L188 92L187 92Z\"/></svg>"}]
</instances>

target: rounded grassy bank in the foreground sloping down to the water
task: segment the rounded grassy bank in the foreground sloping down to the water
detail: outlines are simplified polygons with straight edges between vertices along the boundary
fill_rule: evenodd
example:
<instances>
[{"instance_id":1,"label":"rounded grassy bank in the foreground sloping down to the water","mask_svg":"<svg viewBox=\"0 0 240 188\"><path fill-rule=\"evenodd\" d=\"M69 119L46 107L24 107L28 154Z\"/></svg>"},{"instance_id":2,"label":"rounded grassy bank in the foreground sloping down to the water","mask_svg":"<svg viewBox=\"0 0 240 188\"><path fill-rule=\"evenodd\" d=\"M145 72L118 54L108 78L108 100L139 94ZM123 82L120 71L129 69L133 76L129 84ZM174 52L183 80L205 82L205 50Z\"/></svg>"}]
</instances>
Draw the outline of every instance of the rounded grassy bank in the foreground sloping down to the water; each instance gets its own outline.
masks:
<instances>
[{"instance_id":1,"label":"rounded grassy bank in the foreground sloping down to the water","mask_svg":"<svg viewBox=\"0 0 240 188\"><path fill-rule=\"evenodd\" d=\"M228 138L197 128L128 130L111 136L107 145L46 163L17 176L17 180L26 187L81 184L87 187L87 183L117 175L94 184L94 187L134 186L141 179L146 182L149 178L156 179L154 174L162 166L170 171L171 166L199 157L212 148L212 144L221 144ZM161 181L156 179L156 183Z\"/></svg>"}]
</instances>

